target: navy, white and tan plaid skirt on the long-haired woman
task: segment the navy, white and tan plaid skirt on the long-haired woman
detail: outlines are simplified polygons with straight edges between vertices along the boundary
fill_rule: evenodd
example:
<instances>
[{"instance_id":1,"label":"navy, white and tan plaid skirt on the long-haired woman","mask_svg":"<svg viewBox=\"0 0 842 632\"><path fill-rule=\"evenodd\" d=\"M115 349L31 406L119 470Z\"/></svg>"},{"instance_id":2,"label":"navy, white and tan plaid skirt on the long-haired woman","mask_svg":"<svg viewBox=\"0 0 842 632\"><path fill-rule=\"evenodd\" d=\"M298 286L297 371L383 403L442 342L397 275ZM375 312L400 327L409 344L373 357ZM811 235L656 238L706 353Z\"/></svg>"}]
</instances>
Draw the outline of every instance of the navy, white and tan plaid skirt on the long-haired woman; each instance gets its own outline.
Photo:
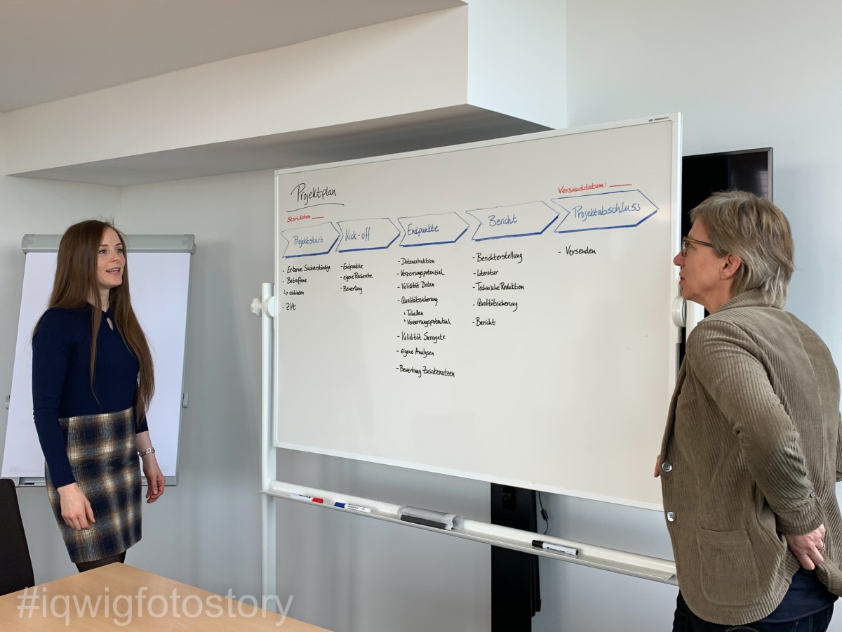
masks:
<instances>
[{"instance_id":1,"label":"navy, white and tan plaid skirt on the long-haired woman","mask_svg":"<svg viewBox=\"0 0 842 632\"><path fill-rule=\"evenodd\" d=\"M119 413L60 419L67 458L96 522L75 531L61 517L61 498L45 467L50 499L61 537L73 563L120 554L141 539L141 467L135 447L135 415Z\"/></svg>"}]
</instances>

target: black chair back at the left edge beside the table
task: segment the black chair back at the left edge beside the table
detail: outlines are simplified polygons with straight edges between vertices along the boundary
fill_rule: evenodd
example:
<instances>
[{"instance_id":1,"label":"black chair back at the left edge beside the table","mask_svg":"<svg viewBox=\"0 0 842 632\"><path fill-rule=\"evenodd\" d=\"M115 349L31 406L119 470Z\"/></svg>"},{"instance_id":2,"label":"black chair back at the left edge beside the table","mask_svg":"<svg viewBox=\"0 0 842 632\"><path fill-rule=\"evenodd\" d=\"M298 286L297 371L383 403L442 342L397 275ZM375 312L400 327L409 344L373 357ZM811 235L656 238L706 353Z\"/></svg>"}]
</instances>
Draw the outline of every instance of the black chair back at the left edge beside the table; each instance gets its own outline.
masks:
<instances>
[{"instance_id":1,"label":"black chair back at the left edge beside the table","mask_svg":"<svg viewBox=\"0 0 842 632\"><path fill-rule=\"evenodd\" d=\"M18 491L11 479L0 479L0 595L29 586L35 586L35 575L20 517Z\"/></svg>"}]
</instances>

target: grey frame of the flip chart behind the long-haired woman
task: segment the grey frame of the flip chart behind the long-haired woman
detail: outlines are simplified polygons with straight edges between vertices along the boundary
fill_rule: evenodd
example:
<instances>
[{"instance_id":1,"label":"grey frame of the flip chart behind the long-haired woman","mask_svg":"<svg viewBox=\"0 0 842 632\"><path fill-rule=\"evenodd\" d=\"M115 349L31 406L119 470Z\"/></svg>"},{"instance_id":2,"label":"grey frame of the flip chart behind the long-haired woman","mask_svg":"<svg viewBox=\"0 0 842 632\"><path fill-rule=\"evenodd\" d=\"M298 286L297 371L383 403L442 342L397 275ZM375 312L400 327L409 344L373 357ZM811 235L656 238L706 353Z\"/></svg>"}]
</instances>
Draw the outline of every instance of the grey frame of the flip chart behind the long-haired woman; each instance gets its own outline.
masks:
<instances>
[{"instance_id":1,"label":"grey frame of the flip chart behind the long-haired woman","mask_svg":"<svg viewBox=\"0 0 842 632\"><path fill-rule=\"evenodd\" d=\"M196 253L196 238L194 234L184 235L126 235L126 239L131 244L131 252L187 252L189 253L189 270L188 280L193 276L193 254ZM58 252L59 244L61 243L61 235L58 234L24 234L21 239L20 247L24 254L36 252ZM187 302L187 312L185 314L185 328L190 318L190 302ZM184 344L187 344L187 335L184 335ZM187 374L187 354L184 354L184 362L181 367L181 383L184 387L184 378ZM179 485L179 446L181 444L181 424L183 411L188 407L188 394L184 389L182 390L182 404L179 410L179 433L176 437L176 451L175 451L175 474L171 476L164 476L165 485ZM7 398L8 408L8 398ZM142 478L142 477L141 477ZM13 477L15 479L15 477ZM142 481L143 485L147 485L146 479ZM16 485L19 487L44 487L45 479L43 476L19 476L16 480Z\"/></svg>"}]
</instances>

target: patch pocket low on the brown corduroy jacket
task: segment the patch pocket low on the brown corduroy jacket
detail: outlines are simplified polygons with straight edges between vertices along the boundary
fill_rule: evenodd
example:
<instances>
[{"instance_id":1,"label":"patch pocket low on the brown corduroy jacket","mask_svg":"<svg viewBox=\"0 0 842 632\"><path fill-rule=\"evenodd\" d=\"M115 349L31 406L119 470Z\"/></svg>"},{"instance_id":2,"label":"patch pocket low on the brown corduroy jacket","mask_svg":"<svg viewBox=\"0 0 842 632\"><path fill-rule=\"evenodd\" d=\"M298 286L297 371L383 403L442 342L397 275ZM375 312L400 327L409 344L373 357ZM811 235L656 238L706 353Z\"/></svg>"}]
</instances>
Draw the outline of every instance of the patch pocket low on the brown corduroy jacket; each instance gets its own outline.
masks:
<instances>
[{"instance_id":1,"label":"patch pocket low on the brown corduroy jacket","mask_svg":"<svg viewBox=\"0 0 842 632\"><path fill-rule=\"evenodd\" d=\"M751 538L744 529L710 531L697 528L701 560L701 592L720 606L742 606L762 592Z\"/></svg>"}]
</instances>

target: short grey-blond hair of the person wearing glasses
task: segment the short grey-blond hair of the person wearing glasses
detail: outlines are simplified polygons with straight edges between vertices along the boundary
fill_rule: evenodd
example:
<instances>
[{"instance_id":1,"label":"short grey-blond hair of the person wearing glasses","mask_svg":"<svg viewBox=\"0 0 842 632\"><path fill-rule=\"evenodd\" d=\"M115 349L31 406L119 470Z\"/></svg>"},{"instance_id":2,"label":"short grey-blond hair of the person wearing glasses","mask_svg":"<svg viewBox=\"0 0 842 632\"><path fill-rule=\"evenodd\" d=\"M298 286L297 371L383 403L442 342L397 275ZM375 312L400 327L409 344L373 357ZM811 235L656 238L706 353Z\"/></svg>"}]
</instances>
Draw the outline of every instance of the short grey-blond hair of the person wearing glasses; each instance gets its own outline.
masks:
<instances>
[{"instance_id":1,"label":"short grey-blond hair of the person wearing glasses","mask_svg":"<svg viewBox=\"0 0 842 632\"><path fill-rule=\"evenodd\" d=\"M795 244L780 208L753 193L720 191L696 206L690 219L705 225L719 256L736 254L742 260L733 296L756 288L775 307L784 306Z\"/></svg>"}]
</instances>

